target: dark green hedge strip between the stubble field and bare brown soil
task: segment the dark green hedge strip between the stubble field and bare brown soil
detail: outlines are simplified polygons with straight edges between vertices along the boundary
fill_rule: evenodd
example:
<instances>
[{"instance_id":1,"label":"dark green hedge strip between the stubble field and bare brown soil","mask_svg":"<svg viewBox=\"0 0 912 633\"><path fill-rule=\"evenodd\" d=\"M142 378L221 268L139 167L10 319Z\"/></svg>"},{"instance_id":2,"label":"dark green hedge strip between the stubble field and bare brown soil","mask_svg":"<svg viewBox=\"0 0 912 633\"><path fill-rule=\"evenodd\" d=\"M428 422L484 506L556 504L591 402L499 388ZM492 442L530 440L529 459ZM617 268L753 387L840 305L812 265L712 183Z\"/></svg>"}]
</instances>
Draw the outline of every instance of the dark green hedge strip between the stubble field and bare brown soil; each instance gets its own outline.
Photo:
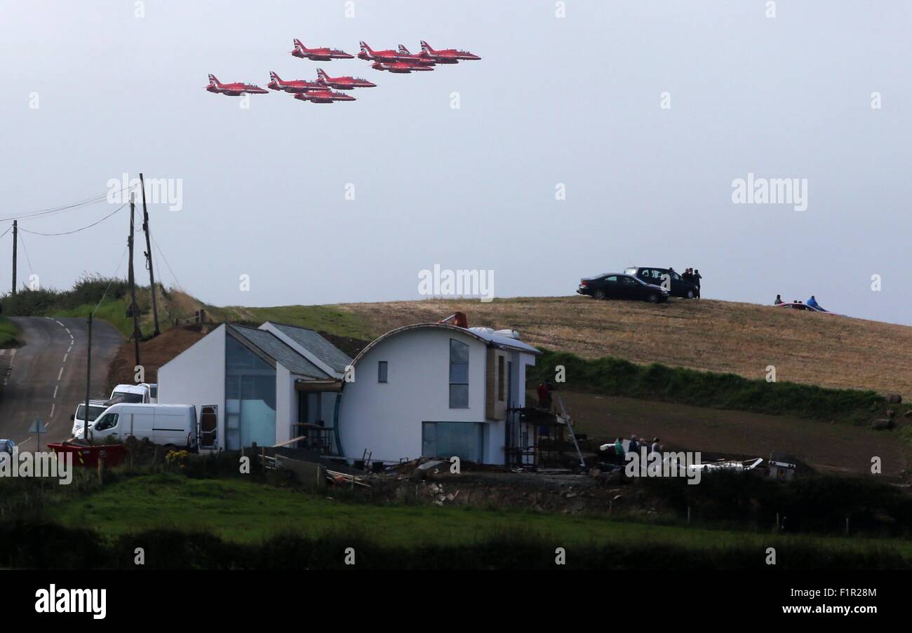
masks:
<instances>
[{"instance_id":1,"label":"dark green hedge strip between the stubble field and bare brown soil","mask_svg":"<svg viewBox=\"0 0 912 633\"><path fill-rule=\"evenodd\" d=\"M886 399L873 391L767 383L733 373L699 372L658 363L637 365L610 357L587 361L550 350L544 350L528 377L534 383L545 379L554 382L558 365L565 367L566 382L559 385L561 388L640 400L851 423L867 422L886 408Z\"/></svg>"}]
</instances>

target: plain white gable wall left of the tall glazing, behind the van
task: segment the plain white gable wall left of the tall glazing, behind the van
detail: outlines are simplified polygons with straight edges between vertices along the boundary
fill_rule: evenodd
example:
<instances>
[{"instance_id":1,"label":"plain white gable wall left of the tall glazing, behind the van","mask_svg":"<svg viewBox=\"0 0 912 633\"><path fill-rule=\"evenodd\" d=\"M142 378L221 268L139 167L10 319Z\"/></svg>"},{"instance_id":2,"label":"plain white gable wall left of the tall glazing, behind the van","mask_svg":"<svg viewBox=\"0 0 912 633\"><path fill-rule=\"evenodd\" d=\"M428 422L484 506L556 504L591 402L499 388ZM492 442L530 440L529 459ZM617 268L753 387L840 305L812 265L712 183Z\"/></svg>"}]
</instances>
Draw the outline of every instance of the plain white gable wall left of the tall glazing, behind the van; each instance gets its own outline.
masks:
<instances>
[{"instance_id":1,"label":"plain white gable wall left of the tall glazing, behind the van","mask_svg":"<svg viewBox=\"0 0 912 633\"><path fill-rule=\"evenodd\" d=\"M218 445L224 441L225 326L220 325L159 369L159 403L218 407Z\"/></svg>"}]
</instances>

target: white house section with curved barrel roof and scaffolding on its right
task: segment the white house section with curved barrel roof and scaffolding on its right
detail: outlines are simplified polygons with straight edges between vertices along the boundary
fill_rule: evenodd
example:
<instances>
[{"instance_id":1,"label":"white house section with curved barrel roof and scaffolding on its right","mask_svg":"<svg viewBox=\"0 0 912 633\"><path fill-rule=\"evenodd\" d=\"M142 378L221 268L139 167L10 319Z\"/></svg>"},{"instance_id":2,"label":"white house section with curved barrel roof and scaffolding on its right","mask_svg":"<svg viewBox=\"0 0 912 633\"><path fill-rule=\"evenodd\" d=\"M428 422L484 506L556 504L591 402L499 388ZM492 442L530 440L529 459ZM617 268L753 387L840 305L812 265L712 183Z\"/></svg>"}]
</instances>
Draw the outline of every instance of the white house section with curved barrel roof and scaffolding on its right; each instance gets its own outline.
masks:
<instances>
[{"instance_id":1,"label":"white house section with curved barrel roof and scaffolding on its right","mask_svg":"<svg viewBox=\"0 0 912 633\"><path fill-rule=\"evenodd\" d=\"M421 323L387 332L358 354L354 381L343 382L341 448L384 462L458 455L508 463L533 437L510 410L525 405L526 366L539 353L514 332L486 328Z\"/></svg>"}]
</instances>

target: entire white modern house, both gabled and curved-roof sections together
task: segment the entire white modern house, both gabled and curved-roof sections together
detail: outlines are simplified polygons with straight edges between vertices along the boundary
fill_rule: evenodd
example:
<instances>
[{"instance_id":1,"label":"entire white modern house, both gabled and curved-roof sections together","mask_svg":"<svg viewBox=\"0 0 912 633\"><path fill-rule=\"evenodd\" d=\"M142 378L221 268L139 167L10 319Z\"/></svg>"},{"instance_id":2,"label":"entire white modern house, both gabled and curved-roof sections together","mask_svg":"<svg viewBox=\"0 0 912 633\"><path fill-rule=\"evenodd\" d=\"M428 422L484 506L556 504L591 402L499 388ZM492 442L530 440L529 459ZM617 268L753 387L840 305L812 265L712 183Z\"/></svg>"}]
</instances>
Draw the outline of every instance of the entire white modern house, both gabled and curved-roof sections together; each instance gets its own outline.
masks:
<instances>
[{"instance_id":1,"label":"entire white modern house, both gabled and curved-roof sections together","mask_svg":"<svg viewBox=\"0 0 912 633\"><path fill-rule=\"evenodd\" d=\"M304 328L226 324L161 367L159 402L197 405L202 448L304 437L296 447L349 462L529 464L534 429L513 410L538 353L515 332L420 323L353 361Z\"/></svg>"}]
</instances>

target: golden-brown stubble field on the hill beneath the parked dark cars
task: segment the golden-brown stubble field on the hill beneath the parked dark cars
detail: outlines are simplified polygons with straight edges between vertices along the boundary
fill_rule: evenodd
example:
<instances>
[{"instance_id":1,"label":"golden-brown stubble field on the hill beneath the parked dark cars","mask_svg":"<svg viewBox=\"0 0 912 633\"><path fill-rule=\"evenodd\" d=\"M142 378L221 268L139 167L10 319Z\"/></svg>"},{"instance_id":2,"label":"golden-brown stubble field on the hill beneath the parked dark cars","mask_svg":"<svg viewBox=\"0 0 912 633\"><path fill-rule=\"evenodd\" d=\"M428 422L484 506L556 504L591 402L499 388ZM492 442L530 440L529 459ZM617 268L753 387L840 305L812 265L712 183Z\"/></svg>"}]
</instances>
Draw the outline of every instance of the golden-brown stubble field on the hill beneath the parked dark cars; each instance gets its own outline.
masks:
<instances>
[{"instance_id":1,"label":"golden-brown stubble field on the hill beneath the parked dark cars","mask_svg":"<svg viewBox=\"0 0 912 633\"><path fill-rule=\"evenodd\" d=\"M912 327L731 301L595 301L540 297L347 303L372 333L438 321L518 330L523 340L586 359L614 356L779 382L912 396Z\"/></svg>"}]
</instances>

